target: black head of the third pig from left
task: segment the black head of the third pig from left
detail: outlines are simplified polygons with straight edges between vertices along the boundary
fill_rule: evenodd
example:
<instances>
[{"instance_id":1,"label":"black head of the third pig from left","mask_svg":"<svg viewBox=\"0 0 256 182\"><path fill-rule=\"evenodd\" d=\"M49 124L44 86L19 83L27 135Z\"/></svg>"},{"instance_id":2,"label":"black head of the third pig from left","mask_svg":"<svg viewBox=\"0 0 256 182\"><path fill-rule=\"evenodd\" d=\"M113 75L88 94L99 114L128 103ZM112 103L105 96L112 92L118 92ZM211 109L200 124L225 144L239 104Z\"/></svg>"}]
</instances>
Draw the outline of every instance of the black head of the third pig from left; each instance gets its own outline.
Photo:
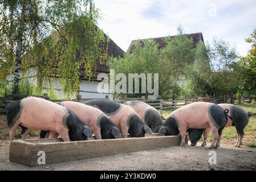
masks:
<instances>
[{"instance_id":1,"label":"black head of the third pig from left","mask_svg":"<svg viewBox=\"0 0 256 182\"><path fill-rule=\"evenodd\" d=\"M152 130L143 123L137 114L129 115L127 119L128 133L132 137L145 137L145 134L152 134Z\"/></svg>"}]
</instances>

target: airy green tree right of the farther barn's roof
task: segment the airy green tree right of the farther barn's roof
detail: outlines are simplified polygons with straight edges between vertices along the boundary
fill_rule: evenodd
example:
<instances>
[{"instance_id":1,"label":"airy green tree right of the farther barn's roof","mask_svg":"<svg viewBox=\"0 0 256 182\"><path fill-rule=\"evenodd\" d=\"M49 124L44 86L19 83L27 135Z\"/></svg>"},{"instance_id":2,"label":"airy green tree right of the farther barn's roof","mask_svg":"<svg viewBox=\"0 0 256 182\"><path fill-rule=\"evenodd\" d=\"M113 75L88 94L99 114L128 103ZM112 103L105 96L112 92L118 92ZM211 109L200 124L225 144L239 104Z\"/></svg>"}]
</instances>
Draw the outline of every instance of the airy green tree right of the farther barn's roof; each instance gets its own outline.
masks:
<instances>
[{"instance_id":1,"label":"airy green tree right of the farther barn's roof","mask_svg":"<svg viewBox=\"0 0 256 182\"><path fill-rule=\"evenodd\" d=\"M239 77L237 53L223 40L213 39L212 44L198 44L194 64L189 67L186 94L213 95L234 93Z\"/></svg>"}]
</instances>

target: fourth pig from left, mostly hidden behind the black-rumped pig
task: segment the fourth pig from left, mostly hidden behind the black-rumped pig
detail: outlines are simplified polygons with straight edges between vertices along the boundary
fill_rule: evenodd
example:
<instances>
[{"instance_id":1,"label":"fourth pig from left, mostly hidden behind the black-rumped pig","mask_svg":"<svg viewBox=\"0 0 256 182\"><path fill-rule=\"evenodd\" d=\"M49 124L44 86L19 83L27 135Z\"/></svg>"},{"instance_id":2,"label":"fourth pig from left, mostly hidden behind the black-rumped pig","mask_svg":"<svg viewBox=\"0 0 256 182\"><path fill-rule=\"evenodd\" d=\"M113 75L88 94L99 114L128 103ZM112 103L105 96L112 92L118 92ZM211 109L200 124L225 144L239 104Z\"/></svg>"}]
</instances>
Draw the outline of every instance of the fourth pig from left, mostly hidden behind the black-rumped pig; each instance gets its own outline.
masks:
<instances>
[{"instance_id":1,"label":"fourth pig from left, mostly hidden behind the black-rumped pig","mask_svg":"<svg viewBox=\"0 0 256 182\"><path fill-rule=\"evenodd\" d=\"M153 133L159 132L163 123L159 111L143 101L127 101L124 104L132 107L140 116L141 121L149 126Z\"/></svg>"}]
</instances>

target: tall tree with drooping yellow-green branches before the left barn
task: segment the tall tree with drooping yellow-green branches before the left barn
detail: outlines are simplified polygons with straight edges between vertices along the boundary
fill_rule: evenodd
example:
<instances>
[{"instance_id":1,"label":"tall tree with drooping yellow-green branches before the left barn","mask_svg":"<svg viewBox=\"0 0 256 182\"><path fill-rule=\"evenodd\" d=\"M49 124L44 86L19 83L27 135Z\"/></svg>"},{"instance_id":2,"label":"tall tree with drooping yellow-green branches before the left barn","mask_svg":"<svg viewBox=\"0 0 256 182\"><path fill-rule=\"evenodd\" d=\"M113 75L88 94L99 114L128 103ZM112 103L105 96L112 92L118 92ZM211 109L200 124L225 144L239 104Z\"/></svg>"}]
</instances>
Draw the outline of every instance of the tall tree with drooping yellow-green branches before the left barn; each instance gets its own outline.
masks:
<instances>
[{"instance_id":1,"label":"tall tree with drooping yellow-green branches before the left barn","mask_svg":"<svg viewBox=\"0 0 256 182\"><path fill-rule=\"evenodd\" d=\"M80 72L90 78L96 60L107 59L107 38L92 0L0 0L0 83L13 74L19 93L21 72L35 68L38 89L58 77L63 92L79 90Z\"/></svg>"}]
</instances>

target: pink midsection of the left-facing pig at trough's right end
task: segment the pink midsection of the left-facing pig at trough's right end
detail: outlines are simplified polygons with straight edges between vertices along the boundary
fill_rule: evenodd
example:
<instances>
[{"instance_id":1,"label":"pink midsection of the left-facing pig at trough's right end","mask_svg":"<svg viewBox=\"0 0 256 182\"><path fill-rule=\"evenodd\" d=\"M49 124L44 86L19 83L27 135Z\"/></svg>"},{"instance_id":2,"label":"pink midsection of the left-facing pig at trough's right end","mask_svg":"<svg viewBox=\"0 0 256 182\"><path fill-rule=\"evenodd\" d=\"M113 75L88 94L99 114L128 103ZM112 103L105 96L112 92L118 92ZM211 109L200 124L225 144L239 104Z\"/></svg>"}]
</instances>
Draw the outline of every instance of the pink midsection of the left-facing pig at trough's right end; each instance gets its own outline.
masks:
<instances>
[{"instance_id":1,"label":"pink midsection of the left-facing pig at trough's right end","mask_svg":"<svg viewBox=\"0 0 256 182\"><path fill-rule=\"evenodd\" d=\"M210 105L213 104L193 102L174 110L170 115L174 114L176 116L180 126L186 126L190 129L206 129L212 123L208 115L208 107Z\"/></svg>"}]
</instances>

